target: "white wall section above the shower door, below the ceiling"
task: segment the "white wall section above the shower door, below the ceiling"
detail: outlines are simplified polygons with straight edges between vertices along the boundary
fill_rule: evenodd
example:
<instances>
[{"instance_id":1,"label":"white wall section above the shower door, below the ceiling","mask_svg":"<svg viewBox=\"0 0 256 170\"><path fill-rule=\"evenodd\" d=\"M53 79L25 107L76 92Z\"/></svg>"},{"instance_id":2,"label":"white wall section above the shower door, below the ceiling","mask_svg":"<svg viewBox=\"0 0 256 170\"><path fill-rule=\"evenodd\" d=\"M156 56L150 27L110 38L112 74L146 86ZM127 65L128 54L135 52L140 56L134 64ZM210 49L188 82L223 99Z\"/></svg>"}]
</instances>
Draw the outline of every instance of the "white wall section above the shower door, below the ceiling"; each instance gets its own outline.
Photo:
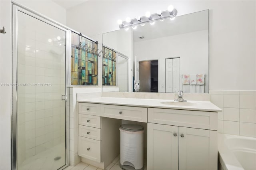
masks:
<instances>
[{"instance_id":1,"label":"white wall section above the shower door, below the ceiling","mask_svg":"<svg viewBox=\"0 0 256 170\"><path fill-rule=\"evenodd\" d=\"M44 16L66 25L66 9L52 0L14 0Z\"/></svg>"}]
</instances>

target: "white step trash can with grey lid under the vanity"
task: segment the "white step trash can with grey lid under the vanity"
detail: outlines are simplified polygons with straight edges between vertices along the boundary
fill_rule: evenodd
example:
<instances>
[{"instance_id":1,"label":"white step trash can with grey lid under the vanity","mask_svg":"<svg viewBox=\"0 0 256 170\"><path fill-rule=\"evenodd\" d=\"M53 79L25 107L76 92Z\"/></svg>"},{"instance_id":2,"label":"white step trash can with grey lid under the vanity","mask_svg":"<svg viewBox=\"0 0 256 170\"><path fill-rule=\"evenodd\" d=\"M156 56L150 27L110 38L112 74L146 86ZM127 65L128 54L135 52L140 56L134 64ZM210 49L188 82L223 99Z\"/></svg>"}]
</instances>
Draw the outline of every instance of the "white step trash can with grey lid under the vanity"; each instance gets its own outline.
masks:
<instances>
[{"instance_id":1,"label":"white step trash can with grey lid under the vanity","mask_svg":"<svg viewBox=\"0 0 256 170\"><path fill-rule=\"evenodd\" d=\"M135 124L124 124L120 128L120 168L143 170L144 128Z\"/></svg>"}]
</instances>

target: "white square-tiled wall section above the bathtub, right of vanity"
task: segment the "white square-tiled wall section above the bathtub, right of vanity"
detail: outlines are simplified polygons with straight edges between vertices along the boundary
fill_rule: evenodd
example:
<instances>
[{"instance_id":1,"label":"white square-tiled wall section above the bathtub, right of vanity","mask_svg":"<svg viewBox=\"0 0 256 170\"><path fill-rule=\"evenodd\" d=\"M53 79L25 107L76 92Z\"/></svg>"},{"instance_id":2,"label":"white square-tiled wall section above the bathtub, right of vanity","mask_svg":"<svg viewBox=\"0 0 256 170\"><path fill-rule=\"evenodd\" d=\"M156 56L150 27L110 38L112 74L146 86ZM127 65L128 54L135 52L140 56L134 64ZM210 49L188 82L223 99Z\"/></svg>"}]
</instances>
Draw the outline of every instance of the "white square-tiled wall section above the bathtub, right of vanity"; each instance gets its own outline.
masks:
<instances>
[{"instance_id":1,"label":"white square-tiled wall section above the bathtub, right of vanity","mask_svg":"<svg viewBox=\"0 0 256 170\"><path fill-rule=\"evenodd\" d=\"M218 113L218 132L256 137L256 91L210 90Z\"/></svg>"}]
</instances>

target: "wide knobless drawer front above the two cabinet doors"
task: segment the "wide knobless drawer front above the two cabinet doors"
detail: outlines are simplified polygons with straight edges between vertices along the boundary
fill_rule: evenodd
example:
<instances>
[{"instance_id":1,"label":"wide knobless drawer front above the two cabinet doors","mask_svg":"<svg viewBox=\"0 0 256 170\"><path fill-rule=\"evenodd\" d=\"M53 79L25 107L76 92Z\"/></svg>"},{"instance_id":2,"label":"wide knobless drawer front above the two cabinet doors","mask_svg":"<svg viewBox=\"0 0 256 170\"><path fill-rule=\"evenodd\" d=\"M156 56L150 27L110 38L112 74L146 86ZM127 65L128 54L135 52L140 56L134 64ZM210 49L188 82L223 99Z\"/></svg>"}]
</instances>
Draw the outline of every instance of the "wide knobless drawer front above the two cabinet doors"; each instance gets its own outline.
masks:
<instances>
[{"instance_id":1,"label":"wide knobless drawer front above the two cabinet doors","mask_svg":"<svg viewBox=\"0 0 256 170\"><path fill-rule=\"evenodd\" d=\"M217 130L217 112L148 108L148 122Z\"/></svg>"}]
</instances>

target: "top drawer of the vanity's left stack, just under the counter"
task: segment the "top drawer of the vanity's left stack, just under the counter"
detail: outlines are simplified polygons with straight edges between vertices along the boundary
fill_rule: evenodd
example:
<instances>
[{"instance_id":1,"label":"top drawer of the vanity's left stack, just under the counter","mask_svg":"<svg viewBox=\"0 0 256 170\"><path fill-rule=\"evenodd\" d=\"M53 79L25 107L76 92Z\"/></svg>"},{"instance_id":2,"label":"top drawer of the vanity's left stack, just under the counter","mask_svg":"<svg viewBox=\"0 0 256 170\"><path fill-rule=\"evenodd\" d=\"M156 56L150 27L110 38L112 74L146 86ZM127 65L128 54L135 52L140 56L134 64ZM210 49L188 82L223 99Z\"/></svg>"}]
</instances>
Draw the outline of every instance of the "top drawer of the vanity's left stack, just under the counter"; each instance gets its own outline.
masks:
<instances>
[{"instance_id":1,"label":"top drawer of the vanity's left stack, just under the counter","mask_svg":"<svg viewBox=\"0 0 256 170\"><path fill-rule=\"evenodd\" d=\"M100 116L100 104L78 103L78 113Z\"/></svg>"}]
</instances>

